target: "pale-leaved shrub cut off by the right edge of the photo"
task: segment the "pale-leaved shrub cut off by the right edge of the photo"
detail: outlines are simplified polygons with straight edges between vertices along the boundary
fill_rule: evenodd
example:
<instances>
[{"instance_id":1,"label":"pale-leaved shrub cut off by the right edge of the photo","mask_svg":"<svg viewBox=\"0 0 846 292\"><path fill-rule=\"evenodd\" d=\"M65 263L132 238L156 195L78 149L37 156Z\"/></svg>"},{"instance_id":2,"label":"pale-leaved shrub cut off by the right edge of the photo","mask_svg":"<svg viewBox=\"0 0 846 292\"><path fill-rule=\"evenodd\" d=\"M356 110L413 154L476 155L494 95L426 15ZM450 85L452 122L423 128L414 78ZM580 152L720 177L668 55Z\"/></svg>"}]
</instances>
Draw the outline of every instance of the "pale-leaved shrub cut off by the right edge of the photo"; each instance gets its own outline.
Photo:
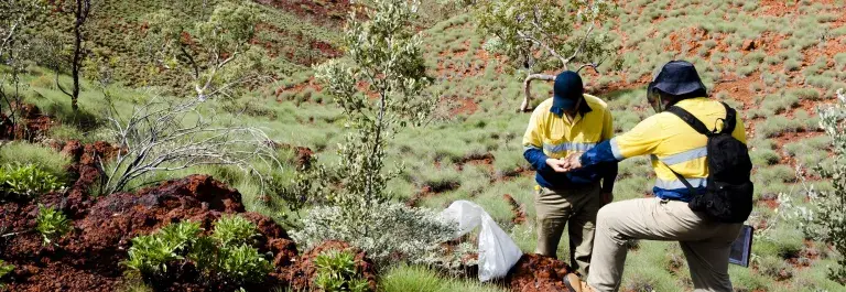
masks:
<instances>
[{"instance_id":1,"label":"pale-leaved shrub cut off by the right edge of the photo","mask_svg":"<svg viewBox=\"0 0 846 292\"><path fill-rule=\"evenodd\" d=\"M832 191L811 188L809 196L815 210L813 223L816 236L832 245L839 253L837 266L828 271L828 278L846 284L846 95L837 90L838 104L820 110L820 127L832 138L835 158L831 167L816 166L823 177L832 180Z\"/></svg>"}]
</instances>

